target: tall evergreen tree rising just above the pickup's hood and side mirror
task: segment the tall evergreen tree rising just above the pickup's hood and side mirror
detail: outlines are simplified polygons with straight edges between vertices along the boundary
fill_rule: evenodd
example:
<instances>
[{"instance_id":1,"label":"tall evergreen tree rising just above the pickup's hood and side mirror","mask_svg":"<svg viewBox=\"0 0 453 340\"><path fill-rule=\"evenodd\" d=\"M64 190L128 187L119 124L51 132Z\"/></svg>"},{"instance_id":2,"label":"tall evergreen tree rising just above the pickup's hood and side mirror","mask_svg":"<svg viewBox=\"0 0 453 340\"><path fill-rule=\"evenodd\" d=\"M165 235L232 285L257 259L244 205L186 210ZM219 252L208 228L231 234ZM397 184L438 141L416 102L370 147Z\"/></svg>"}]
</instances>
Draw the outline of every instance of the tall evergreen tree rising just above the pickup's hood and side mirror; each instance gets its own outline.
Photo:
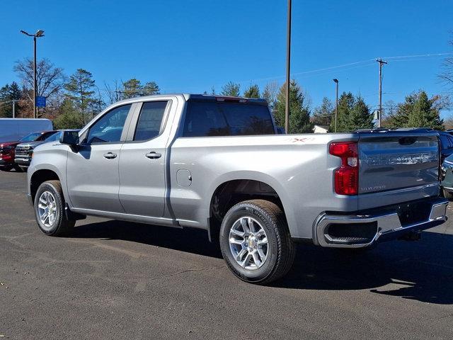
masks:
<instances>
[{"instance_id":1,"label":"tall evergreen tree rising just above the pickup's hood and side mirror","mask_svg":"<svg viewBox=\"0 0 453 340\"><path fill-rule=\"evenodd\" d=\"M96 103L94 94L93 74L85 69L77 69L77 71L69 77L69 81L64 85L67 91L67 98L74 102L74 107L79 111L82 122L86 123L86 114L88 106L93 106Z\"/></svg>"}]
</instances>

